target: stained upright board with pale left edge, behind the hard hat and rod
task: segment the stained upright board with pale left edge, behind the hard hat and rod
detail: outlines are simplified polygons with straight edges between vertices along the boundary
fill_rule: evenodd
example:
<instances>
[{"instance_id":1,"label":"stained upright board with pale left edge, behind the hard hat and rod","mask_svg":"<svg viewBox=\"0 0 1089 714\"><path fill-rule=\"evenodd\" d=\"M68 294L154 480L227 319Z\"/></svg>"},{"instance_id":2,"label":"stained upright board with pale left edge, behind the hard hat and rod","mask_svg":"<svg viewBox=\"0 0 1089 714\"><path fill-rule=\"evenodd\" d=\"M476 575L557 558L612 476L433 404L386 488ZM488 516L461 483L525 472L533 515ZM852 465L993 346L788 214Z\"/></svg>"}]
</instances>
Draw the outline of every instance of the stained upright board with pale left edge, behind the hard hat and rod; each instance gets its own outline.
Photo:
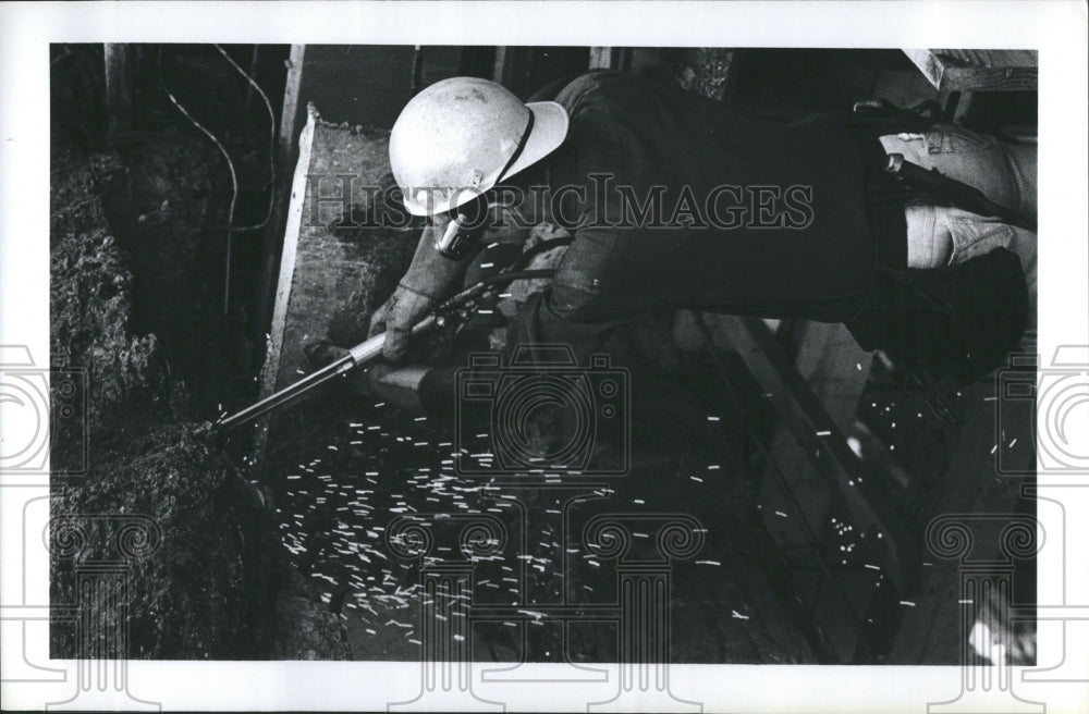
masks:
<instances>
[{"instance_id":1,"label":"stained upright board with pale left edge, behind the hard hat and rod","mask_svg":"<svg viewBox=\"0 0 1089 714\"><path fill-rule=\"evenodd\" d=\"M366 337L370 313L404 274L419 241L408 227L363 226L378 210L372 187L388 182L389 135L320 120L307 104L292 182L261 396L313 370L304 347L330 338L352 346ZM345 225L355 221L356 225ZM344 428L343 385L318 390L270 415L256 432L255 472L273 491L315 444ZM357 405L356 405L357 406Z\"/></svg>"}]
</instances>

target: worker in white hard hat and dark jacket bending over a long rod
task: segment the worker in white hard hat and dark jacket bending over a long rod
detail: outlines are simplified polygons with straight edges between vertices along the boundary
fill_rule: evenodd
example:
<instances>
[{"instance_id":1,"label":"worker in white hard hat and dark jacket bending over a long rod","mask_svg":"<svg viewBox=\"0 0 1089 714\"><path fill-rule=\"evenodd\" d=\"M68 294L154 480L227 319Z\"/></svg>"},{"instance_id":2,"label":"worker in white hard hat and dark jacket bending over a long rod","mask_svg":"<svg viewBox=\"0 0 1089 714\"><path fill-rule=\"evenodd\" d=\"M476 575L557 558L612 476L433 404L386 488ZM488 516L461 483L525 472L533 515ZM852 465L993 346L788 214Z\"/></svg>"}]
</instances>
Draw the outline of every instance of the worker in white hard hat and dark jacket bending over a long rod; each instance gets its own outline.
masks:
<instances>
[{"instance_id":1,"label":"worker in white hard hat and dark jacket bending over a long rod","mask_svg":"<svg viewBox=\"0 0 1089 714\"><path fill-rule=\"evenodd\" d=\"M456 366L404 358L412 325L479 264L481 247L452 259L436 243L484 202L492 218L562 225L573 238L548 288L511 320L509 354L561 343L582 362L622 325L689 308L845 322L866 348L978 378L1025 330L1035 233L917 196L905 206L882 168L898 152L1035 218L1035 155L957 127L918 128L756 120L616 72L529 103L479 78L431 85L390 136L404 205L429 223L374 315L387 362L366 389L415 411L452 404Z\"/></svg>"}]
</instances>

